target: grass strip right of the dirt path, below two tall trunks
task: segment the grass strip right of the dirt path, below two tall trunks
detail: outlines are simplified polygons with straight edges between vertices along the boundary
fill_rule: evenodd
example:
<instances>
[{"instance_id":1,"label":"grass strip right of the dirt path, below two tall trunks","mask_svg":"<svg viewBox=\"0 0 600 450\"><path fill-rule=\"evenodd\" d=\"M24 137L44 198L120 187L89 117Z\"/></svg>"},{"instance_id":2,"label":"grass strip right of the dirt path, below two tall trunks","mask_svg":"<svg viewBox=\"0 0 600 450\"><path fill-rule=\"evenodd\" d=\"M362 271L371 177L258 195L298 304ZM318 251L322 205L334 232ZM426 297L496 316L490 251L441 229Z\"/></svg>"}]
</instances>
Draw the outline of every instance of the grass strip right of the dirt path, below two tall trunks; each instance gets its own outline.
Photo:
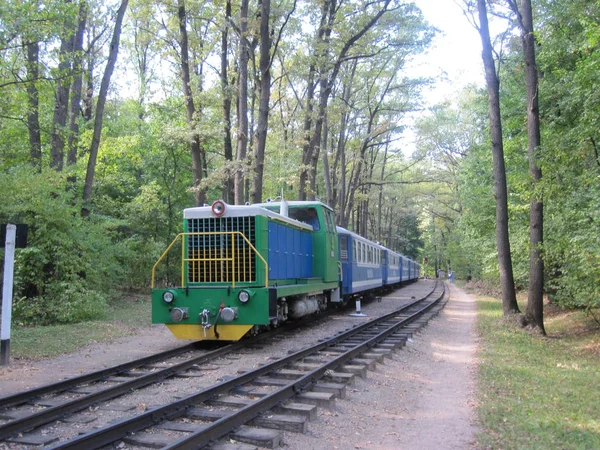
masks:
<instances>
[{"instance_id":1,"label":"grass strip right of the dirt path, below two tall trunks","mask_svg":"<svg viewBox=\"0 0 600 450\"><path fill-rule=\"evenodd\" d=\"M478 317L480 447L600 448L598 324L549 307L548 337L533 336L491 297L478 297Z\"/></svg>"}]
</instances>

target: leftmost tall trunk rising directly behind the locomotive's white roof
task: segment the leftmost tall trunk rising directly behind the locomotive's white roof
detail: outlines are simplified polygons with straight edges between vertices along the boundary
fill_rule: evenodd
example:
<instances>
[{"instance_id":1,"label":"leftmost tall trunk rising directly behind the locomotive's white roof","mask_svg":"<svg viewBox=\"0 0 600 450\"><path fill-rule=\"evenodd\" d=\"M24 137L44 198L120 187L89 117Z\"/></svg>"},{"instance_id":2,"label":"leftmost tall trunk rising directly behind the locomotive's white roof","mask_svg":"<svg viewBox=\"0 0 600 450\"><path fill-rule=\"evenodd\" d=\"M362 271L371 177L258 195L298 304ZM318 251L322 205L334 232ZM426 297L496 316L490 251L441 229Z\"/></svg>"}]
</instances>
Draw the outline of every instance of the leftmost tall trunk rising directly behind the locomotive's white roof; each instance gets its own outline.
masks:
<instances>
[{"instance_id":1,"label":"leftmost tall trunk rising directly behind the locomotive's white roof","mask_svg":"<svg viewBox=\"0 0 600 450\"><path fill-rule=\"evenodd\" d=\"M203 174L204 155L200 146L200 135L196 130L196 107L192 95L191 79L190 79L190 60L189 60L189 45L187 33L187 13L185 10L185 1L178 0L178 18L179 18L179 34L181 46L181 80L183 82L183 96L185 98L185 109L190 130L192 131L192 141L190 149L192 153L192 170L194 175L194 198L196 206L202 206L206 200L206 194L203 188L200 187Z\"/></svg>"}]
</instances>

